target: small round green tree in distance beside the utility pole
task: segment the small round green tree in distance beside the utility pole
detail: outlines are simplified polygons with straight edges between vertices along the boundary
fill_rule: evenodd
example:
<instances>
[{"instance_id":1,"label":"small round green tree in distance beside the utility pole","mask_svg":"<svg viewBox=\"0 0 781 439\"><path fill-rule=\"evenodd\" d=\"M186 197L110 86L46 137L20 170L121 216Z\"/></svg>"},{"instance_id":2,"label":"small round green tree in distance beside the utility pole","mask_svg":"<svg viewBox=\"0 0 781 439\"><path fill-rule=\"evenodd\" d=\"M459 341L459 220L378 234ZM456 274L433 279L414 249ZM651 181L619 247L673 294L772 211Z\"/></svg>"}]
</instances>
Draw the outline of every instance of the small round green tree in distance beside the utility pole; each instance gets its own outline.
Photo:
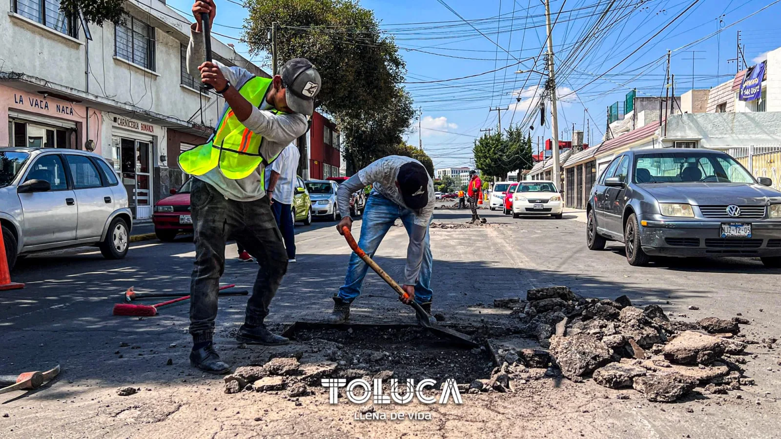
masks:
<instances>
[{"instance_id":1,"label":"small round green tree in distance beside the utility pole","mask_svg":"<svg viewBox=\"0 0 781 439\"><path fill-rule=\"evenodd\" d=\"M522 127L511 126L504 133L483 135L475 141L473 152L477 169L503 180L510 171L532 166L531 135L524 136Z\"/></svg>"}]
</instances>

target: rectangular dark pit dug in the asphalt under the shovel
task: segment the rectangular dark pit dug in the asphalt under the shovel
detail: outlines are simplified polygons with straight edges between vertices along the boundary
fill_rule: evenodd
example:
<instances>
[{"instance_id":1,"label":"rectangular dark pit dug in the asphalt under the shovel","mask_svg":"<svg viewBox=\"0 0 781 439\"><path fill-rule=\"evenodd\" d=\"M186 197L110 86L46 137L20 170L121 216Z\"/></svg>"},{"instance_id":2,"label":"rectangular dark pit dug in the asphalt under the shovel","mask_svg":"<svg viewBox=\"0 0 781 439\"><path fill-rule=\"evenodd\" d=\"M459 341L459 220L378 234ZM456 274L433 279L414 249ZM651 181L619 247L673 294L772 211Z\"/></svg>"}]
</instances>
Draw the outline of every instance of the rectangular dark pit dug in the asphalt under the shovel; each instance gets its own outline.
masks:
<instances>
[{"instance_id":1,"label":"rectangular dark pit dug in the asphalt under the shovel","mask_svg":"<svg viewBox=\"0 0 781 439\"><path fill-rule=\"evenodd\" d=\"M419 327L301 328L294 337L309 344L330 341L326 356L341 369L392 371L394 378L430 378L437 386L448 378L469 384L490 377L494 369L487 348L458 347Z\"/></svg>"}]
</instances>

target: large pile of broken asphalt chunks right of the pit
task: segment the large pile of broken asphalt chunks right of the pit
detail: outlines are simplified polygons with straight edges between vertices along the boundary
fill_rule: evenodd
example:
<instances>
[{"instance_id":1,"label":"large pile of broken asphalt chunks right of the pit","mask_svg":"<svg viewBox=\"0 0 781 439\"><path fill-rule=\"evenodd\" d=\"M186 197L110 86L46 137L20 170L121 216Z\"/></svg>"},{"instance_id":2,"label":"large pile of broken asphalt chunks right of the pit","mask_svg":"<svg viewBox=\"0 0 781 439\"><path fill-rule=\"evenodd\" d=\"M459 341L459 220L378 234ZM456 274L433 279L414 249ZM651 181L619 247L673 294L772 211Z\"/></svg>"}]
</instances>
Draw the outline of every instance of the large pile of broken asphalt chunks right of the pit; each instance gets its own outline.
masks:
<instances>
[{"instance_id":1,"label":"large pile of broken asphalt chunks right of the pit","mask_svg":"<svg viewBox=\"0 0 781 439\"><path fill-rule=\"evenodd\" d=\"M636 308L626 296L583 298L568 287L529 290L526 300L497 299L494 307L512 309L526 334L548 348L551 364L575 382L592 377L605 387L633 387L655 402L675 401L698 386L722 394L754 384L740 367L747 343L738 340L739 325L749 323L741 317L671 321L658 305ZM540 350L500 355L511 369L547 366Z\"/></svg>"}]
</instances>

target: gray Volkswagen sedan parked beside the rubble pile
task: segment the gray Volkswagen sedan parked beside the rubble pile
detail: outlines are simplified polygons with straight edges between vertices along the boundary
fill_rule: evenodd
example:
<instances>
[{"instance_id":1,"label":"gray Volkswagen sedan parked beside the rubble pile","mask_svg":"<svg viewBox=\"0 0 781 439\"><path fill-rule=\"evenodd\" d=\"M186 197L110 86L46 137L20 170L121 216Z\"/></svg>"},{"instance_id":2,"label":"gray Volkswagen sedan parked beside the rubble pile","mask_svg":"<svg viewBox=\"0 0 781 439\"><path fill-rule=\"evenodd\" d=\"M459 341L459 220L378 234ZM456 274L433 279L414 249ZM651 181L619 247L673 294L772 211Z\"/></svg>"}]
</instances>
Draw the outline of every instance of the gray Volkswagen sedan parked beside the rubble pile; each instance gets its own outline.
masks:
<instances>
[{"instance_id":1,"label":"gray Volkswagen sedan parked beside the rubble pile","mask_svg":"<svg viewBox=\"0 0 781 439\"><path fill-rule=\"evenodd\" d=\"M633 266L669 255L760 257L781 267L781 192L771 184L723 152L624 152L591 189L588 248L623 242Z\"/></svg>"}]
</instances>

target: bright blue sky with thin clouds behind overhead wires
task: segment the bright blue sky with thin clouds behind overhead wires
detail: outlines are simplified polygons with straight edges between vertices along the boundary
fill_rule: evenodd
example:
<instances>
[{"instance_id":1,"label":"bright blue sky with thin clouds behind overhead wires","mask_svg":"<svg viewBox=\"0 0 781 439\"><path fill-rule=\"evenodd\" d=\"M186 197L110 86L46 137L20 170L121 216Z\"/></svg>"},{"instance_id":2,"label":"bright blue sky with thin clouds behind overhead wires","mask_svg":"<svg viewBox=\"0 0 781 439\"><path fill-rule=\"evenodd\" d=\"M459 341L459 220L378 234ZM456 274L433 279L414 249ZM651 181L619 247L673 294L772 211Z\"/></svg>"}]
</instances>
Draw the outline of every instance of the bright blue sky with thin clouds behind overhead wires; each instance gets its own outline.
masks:
<instances>
[{"instance_id":1,"label":"bright blue sky with thin clouds behind overhead wires","mask_svg":"<svg viewBox=\"0 0 781 439\"><path fill-rule=\"evenodd\" d=\"M233 27L241 27L247 12L228 0L216 2L218 25L213 30L228 36L218 37L234 43L248 56L245 45L230 39L241 35L241 30ZM696 88L712 87L734 75L736 64L728 59L736 57L737 30L741 31L741 44L746 46L748 66L761 59L764 52L781 47L781 30L777 27L781 2L776 0L699 0L693 6L694 0L616 0L612 12L595 28L611 2L551 0L554 20L558 17L553 42L557 91L562 100L559 131L565 131L560 135L562 140L569 140L572 123L576 130L583 130L588 119L591 143L596 145L604 133L608 105L623 101L633 87L637 87L638 96L664 94L668 50L673 51L670 70L675 74L676 95L680 95L692 87L693 56ZM383 30L402 48L408 82L448 80L406 85L415 98L415 108L423 111L423 148L435 166L469 166L472 143L480 130L497 127L497 112L489 112L490 107L508 109L501 112L503 128L511 122L523 123L526 130L533 126L533 139L550 137L550 115L546 116L546 126L540 127L539 113L527 111L537 107L540 75L515 74L516 70L544 70L540 56L546 42L543 3L444 3L469 20L471 26L439 0L361 2L374 11ZM188 0L168 0L168 4L182 11L191 8ZM750 16L765 6L769 7ZM744 19L746 16L750 17ZM523 61L528 58L536 58L537 64L534 60ZM265 62L262 55L253 59L260 66ZM487 73L492 70L497 71ZM472 75L479 76L450 80ZM546 112L550 112L547 106ZM415 121L408 135L412 145L418 143L417 125Z\"/></svg>"}]
</instances>

